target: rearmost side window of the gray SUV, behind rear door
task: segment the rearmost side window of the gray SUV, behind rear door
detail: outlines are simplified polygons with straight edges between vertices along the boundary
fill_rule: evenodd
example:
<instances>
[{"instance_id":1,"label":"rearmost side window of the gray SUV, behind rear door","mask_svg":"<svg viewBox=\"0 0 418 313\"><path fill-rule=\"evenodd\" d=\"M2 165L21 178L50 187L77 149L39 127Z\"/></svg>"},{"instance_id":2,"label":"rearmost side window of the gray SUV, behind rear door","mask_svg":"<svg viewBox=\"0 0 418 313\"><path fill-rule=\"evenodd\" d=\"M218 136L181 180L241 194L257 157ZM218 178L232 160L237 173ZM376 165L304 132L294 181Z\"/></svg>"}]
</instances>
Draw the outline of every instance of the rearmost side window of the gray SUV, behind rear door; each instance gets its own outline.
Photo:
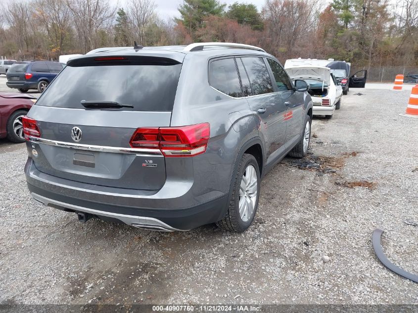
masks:
<instances>
[{"instance_id":1,"label":"rearmost side window of the gray SUV, behind rear door","mask_svg":"<svg viewBox=\"0 0 418 313\"><path fill-rule=\"evenodd\" d=\"M233 58L210 62L209 84L232 97L242 97L238 72Z\"/></svg>"}]
</instances>

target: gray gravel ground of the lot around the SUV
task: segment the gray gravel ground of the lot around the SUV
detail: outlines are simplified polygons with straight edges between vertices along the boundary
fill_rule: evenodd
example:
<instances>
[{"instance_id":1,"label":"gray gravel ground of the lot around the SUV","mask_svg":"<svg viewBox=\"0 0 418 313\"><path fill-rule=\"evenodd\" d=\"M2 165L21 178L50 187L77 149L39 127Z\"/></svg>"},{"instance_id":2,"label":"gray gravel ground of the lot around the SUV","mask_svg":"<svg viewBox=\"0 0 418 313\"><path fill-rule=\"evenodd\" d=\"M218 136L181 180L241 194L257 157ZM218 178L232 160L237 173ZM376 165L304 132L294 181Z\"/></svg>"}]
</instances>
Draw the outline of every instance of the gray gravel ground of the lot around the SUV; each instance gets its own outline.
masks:
<instances>
[{"instance_id":1,"label":"gray gravel ground of the lot around the SUV","mask_svg":"<svg viewBox=\"0 0 418 313\"><path fill-rule=\"evenodd\" d=\"M398 115L408 97L350 89L333 119L314 119L305 163L317 163L278 164L241 234L79 223L31 200L25 147L1 141L0 303L418 304L418 284L371 242L384 229L387 257L418 273L418 119Z\"/></svg>"}]
</instances>

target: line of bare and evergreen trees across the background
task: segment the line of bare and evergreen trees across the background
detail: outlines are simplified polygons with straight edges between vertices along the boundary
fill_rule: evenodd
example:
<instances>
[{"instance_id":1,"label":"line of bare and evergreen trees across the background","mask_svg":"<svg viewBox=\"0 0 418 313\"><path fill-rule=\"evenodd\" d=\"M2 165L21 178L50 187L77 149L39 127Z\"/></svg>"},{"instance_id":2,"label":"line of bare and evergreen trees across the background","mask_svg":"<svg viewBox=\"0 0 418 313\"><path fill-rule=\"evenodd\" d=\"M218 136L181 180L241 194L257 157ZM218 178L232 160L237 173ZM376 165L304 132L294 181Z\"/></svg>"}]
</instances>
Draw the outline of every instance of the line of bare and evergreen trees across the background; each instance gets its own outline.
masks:
<instances>
[{"instance_id":1,"label":"line of bare and evergreen trees across the background","mask_svg":"<svg viewBox=\"0 0 418 313\"><path fill-rule=\"evenodd\" d=\"M249 0L250 1L250 0ZM153 0L9 0L0 5L0 55L58 59L102 46L234 42L287 58L356 66L418 65L418 0L183 0L163 19Z\"/></svg>"}]
</instances>

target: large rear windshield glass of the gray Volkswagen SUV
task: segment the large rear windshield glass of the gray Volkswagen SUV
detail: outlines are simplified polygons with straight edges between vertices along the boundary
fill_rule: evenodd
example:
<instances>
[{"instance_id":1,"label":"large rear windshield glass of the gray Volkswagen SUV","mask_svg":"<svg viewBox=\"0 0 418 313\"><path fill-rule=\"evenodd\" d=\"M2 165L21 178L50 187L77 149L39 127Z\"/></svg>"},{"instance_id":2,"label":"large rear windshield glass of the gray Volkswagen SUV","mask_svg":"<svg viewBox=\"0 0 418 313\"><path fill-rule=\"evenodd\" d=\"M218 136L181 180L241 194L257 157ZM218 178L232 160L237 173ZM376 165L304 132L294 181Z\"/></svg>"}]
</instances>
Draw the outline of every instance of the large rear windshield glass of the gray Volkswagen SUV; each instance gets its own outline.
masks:
<instances>
[{"instance_id":1,"label":"large rear windshield glass of the gray Volkswagen SUV","mask_svg":"<svg viewBox=\"0 0 418 313\"><path fill-rule=\"evenodd\" d=\"M172 111L182 64L66 66L37 105L82 108L81 100L116 101L124 110Z\"/></svg>"}]
</instances>

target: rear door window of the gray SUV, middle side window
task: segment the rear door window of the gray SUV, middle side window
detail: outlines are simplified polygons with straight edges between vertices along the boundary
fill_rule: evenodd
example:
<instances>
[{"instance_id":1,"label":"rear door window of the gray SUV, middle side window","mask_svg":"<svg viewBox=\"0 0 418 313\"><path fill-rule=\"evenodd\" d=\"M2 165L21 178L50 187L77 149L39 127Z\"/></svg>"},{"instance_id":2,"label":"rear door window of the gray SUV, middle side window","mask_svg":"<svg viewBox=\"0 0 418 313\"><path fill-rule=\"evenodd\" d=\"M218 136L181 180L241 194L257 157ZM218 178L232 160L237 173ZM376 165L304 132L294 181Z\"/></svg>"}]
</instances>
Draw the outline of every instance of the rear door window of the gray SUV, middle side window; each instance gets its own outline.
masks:
<instances>
[{"instance_id":1,"label":"rear door window of the gray SUV, middle side window","mask_svg":"<svg viewBox=\"0 0 418 313\"><path fill-rule=\"evenodd\" d=\"M261 57L243 57L242 63L244 63L247 70L248 77L251 83L251 89L253 95L273 92L272 80L270 79L269 72L266 64Z\"/></svg>"}]
</instances>

